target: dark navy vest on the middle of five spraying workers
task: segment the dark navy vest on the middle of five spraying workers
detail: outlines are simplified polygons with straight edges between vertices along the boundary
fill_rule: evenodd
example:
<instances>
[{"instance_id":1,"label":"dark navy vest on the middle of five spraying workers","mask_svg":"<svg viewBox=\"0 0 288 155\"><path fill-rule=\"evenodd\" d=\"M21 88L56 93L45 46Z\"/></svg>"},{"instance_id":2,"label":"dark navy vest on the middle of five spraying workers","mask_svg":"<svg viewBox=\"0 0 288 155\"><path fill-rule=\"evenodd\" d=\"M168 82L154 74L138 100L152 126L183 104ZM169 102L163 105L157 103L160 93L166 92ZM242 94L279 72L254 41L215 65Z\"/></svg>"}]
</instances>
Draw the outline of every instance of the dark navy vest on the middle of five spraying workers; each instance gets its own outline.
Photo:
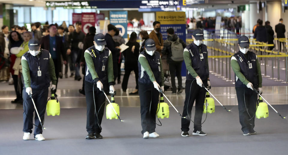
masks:
<instances>
[{"instance_id":1,"label":"dark navy vest on the middle of five spraying workers","mask_svg":"<svg viewBox=\"0 0 288 155\"><path fill-rule=\"evenodd\" d=\"M140 54L144 55L151 67L151 70L155 76L156 82L160 85L161 84L161 78L160 78L160 71L159 71L159 66L160 66L160 53L155 51L154 54L151 56L147 54L145 51L141 52ZM139 78L138 82L152 85L152 81L149 78L149 75L147 72L141 67L140 62L138 61L138 70L139 70Z\"/></svg>"}]
</instances>

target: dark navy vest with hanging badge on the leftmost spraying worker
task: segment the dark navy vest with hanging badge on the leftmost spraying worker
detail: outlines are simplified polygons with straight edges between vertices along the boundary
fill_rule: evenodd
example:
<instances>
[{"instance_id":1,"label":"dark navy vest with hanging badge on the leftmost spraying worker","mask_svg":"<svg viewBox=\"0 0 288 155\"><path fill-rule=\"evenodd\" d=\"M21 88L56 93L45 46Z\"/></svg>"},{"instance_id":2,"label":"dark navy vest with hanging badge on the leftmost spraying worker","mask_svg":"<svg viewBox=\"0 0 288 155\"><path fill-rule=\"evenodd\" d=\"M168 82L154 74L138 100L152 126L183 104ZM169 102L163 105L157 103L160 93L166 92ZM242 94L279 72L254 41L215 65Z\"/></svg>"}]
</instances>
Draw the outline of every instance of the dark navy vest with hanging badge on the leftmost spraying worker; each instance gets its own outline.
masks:
<instances>
[{"instance_id":1,"label":"dark navy vest with hanging badge on the leftmost spraying worker","mask_svg":"<svg viewBox=\"0 0 288 155\"><path fill-rule=\"evenodd\" d=\"M26 52L23 55L29 65L31 88L47 88L50 85L50 74L49 74L49 51L41 49L41 52L37 56L31 55ZM37 58L38 57L38 58ZM41 76L38 76L38 66L40 66Z\"/></svg>"}]
</instances>

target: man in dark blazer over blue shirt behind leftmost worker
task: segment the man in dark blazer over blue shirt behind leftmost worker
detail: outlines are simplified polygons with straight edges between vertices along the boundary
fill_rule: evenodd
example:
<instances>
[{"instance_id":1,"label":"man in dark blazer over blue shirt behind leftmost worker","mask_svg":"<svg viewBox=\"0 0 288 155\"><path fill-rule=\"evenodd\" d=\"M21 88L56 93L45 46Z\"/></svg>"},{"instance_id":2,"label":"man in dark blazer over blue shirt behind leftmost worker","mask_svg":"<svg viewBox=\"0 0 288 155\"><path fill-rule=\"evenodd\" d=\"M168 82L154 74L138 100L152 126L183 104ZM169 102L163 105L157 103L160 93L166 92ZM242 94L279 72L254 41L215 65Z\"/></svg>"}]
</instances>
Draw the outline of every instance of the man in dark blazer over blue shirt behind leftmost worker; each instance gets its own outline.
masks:
<instances>
[{"instance_id":1,"label":"man in dark blazer over blue shirt behind leftmost worker","mask_svg":"<svg viewBox=\"0 0 288 155\"><path fill-rule=\"evenodd\" d=\"M57 28L54 24L49 25L49 35L46 35L41 38L40 45L42 49L46 49L51 54L55 66L56 74L56 89L58 84L58 76L61 71L61 55L63 57L63 63L66 64L66 52L62 39L57 34ZM55 92L56 92L55 89ZM56 95L56 94L55 94Z\"/></svg>"}]
</instances>

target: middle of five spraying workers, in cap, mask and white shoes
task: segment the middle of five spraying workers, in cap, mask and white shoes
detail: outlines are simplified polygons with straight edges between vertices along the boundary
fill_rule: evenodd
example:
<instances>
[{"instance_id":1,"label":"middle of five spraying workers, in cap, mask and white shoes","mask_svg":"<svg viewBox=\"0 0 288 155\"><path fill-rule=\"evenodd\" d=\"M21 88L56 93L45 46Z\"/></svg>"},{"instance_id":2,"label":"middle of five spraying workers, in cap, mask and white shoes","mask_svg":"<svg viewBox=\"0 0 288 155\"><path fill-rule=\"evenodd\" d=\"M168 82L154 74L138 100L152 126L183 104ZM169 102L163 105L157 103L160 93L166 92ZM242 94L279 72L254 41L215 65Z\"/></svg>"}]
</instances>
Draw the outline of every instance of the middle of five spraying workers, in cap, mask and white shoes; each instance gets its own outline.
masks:
<instances>
[{"instance_id":1,"label":"middle of five spraying workers, in cap, mask and white shoes","mask_svg":"<svg viewBox=\"0 0 288 155\"><path fill-rule=\"evenodd\" d=\"M164 74L160 53L155 51L155 41L145 41L145 51L138 57L139 96L143 138L159 137L155 132L156 110L160 89L164 91Z\"/></svg>"}]
</instances>

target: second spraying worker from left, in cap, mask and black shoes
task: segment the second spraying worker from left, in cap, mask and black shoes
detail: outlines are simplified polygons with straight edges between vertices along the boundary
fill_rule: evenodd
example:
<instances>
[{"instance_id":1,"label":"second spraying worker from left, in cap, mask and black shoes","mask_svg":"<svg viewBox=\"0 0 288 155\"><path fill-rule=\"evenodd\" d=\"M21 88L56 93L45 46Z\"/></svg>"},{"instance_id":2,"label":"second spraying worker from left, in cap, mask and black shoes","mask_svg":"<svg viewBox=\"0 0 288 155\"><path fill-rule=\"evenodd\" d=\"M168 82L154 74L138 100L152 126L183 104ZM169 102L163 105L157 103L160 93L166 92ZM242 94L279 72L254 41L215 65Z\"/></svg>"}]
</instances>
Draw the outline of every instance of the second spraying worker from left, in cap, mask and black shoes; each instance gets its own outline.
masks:
<instances>
[{"instance_id":1,"label":"second spraying worker from left, in cap, mask and black shoes","mask_svg":"<svg viewBox=\"0 0 288 155\"><path fill-rule=\"evenodd\" d=\"M105 47L105 36L94 36L94 45L85 50L85 95L87 103L86 139L101 139L101 121L106 98L102 90L115 93L113 59L111 51Z\"/></svg>"}]
</instances>

